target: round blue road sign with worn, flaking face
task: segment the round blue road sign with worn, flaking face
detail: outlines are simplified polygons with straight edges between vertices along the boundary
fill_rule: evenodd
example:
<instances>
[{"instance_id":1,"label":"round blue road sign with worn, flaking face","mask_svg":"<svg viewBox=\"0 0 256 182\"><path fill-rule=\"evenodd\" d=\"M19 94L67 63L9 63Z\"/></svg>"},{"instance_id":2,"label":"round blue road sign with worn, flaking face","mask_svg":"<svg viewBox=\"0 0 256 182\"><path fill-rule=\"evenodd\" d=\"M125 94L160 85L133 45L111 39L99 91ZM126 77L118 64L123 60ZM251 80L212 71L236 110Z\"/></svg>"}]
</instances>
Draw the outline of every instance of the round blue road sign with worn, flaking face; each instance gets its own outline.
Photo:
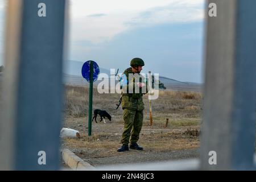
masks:
<instances>
[{"instance_id":1,"label":"round blue road sign with worn, flaking face","mask_svg":"<svg viewBox=\"0 0 256 182\"><path fill-rule=\"evenodd\" d=\"M93 64L93 82L98 79L98 74L100 74L100 68L98 64L94 61L86 61L82 65L82 77L85 78L86 81L90 82L90 62Z\"/></svg>"}]
</instances>

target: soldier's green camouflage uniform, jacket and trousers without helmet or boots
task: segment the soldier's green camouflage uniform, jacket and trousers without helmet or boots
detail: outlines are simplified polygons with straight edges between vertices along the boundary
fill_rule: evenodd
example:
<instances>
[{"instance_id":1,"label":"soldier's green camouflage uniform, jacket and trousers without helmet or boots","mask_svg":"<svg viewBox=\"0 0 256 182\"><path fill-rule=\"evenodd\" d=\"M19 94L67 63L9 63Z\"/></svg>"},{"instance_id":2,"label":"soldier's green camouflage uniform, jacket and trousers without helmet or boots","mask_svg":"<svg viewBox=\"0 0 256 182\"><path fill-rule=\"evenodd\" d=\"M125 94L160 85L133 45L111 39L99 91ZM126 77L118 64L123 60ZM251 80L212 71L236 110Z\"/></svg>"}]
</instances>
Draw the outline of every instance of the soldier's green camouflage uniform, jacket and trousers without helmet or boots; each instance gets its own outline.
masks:
<instances>
[{"instance_id":1,"label":"soldier's green camouflage uniform, jacket and trousers without helmet or boots","mask_svg":"<svg viewBox=\"0 0 256 182\"><path fill-rule=\"evenodd\" d=\"M130 143L137 143L139 139L143 122L144 103L142 89L140 89L139 93L129 93L129 86L133 85L133 91L135 90L135 86L137 86L135 80L129 80L129 73L133 73L132 69L127 68L123 73L127 77L127 86L123 89L127 89L127 92L122 93L122 109L125 126L123 128L121 142L122 144L128 145L130 137ZM148 89L146 88L147 92Z\"/></svg>"}]
</instances>

